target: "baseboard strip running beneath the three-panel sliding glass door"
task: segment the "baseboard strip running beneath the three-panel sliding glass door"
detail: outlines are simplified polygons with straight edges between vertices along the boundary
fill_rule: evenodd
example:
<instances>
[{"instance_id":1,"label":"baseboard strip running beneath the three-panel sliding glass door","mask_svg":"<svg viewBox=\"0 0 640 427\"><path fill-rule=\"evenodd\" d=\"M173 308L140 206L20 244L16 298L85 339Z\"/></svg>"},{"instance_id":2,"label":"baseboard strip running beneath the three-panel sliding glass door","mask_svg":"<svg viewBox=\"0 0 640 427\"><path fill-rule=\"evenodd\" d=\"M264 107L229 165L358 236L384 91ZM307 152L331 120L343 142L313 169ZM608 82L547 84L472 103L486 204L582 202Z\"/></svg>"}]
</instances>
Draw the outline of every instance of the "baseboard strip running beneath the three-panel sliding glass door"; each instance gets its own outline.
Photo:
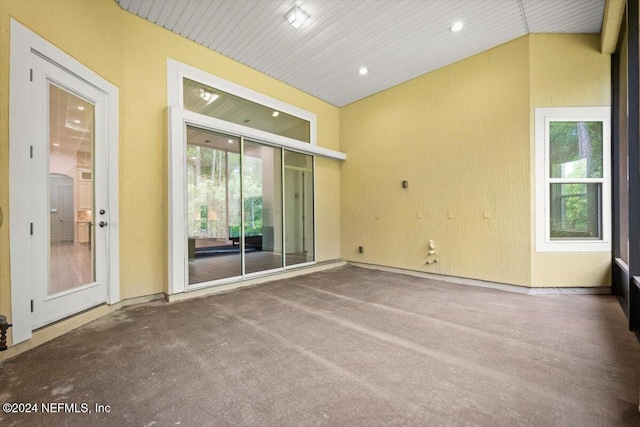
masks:
<instances>
[{"instance_id":1,"label":"baseboard strip running beneath the three-panel sliding glass door","mask_svg":"<svg viewBox=\"0 0 640 427\"><path fill-rule=\"evenodd\" d=\"M308 267L300 267L293 270L287 270L284 272L277 272L266 276L260 276L253 279L227 283L218 286L210 286L208 288L196 289L193 291L182 292L178 294L167 295L166 299L169 302L184 301L192 298L200 298L207 295L219 294L221 292L229 292L235 289L246 288L249 286L257 286L263 283L273 282L276 280L289 279L291 277L301 276L304 274L316 273L319 271L331 270L338 267L344 267L347 262L338 259L331 261L323 261Z\"/></svg>"}]
</instances>

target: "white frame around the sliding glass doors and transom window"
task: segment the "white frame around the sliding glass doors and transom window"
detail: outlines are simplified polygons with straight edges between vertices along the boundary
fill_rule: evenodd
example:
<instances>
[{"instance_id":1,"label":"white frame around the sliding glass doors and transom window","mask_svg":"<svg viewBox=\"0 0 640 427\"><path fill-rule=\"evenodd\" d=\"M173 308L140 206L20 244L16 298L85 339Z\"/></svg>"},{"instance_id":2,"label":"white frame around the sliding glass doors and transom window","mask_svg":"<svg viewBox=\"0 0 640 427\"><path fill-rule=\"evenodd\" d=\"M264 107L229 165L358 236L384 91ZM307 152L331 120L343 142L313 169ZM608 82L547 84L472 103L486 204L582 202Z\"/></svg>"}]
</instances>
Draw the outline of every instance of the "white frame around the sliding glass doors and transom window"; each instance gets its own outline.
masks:
<instances>
[{"instance_id":1,"label":"white frame around the sliding glass doors and transom window","mask_svg":"<svg viewBox=\"0 0 640 427\"><path fill-rule=\"evenodd\" d=\"M220 89L224 92L230 93L235 96L250 100L254 103L273 108L274 110L282 111L292 116L304 119L310 123L310 142L303 142L293 138L277 135L270 132L250 128L241 124L232 123L217 118L213 118L207 115L187 111L184 109L183 102L183 83L184 79L199 82L203 85L210 86L212 88ZM317 145L317 120L316 115L298 108L294 105L287 104L278 99L271 98L260 92L243 87L236 83L222 79L213 74L209 74L203 70L191 67L187 64L183 64L171 58L167 59L167 115L168 115L168 169L169 169L169 219L168 219L168 293L176 294L186 292L187 290L198 289L202 287L208 287L213 285L222 285L231 282L237 282L238 280L246 280L248 278L256 276L264 276L265 274L277 273L293 268L299 268L315 264L317 258L317 215L316 215L316 182L315 182L315 157L322 156L334 160L346 160L345 153L330 150L328 148L320 147ZM241 227L242 235L242 277L239 279L237 276L231 279L221 279L212 282L205 282L203 284L189 285L188 281L188 257L187 257L187 228L186 228L186 206L187 206L187 192L186 192L186 149L187 149L187 126L193 126L201 129L209 129L215 132L222 132L237 137L246 138L248 140L264 144L271 145L282 149L282 186L284 187L284 152L285 150L293 151L301 154L310 155L312 157L312 165L314 168L313 179L313 253L314 260L311 262L304 262L300 264L294 264L291 266L286 265L286 246L285 246L285 197L282 196L282 218L283 218L283 230L282 230L282 269L266 270L263 272L256 272L245 274L244 273L244 226ZM241 140L241 145L243 139ZM241 156L242 158L242 156ZM243 160L242 160L243 161ZM244 200L242 202L242 210L244 209ZM244 217L242 218L244 221Z\"/></svg>"}]
</instances>

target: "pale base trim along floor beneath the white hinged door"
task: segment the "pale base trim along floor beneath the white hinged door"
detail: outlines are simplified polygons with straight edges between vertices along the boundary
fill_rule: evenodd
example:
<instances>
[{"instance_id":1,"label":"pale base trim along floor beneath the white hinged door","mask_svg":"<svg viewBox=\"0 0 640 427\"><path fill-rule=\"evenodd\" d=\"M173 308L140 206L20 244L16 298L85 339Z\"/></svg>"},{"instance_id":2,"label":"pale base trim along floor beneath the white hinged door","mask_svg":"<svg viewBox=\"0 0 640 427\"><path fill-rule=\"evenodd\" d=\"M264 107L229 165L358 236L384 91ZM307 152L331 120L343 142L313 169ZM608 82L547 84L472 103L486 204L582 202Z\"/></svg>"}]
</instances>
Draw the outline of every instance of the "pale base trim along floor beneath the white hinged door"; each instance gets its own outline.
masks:
<instances>
[{"instance_id":1,"label":"pale base trim along floor beneath the white hinged door","mask_svg":"<svg viewBox=\"0 0 640 427\"><path fill-rule=\"evenodd\" d=\"M164 298L164 293L129 298L112 305L103 304L66 319L59 320L33 331L31 339L12 345L5 351L0 352L0 362L15 357L27 350L31 350L32 348L38 347L39 345L58 338L59 336L71 332L74 329L78 329L80 326L84 326L89 322L93 322L94 320L106 316L107 314L118 311L121 308L128 307L130 305L145 304L151 301L163 300Z\"/></svg>"}]
</instances>

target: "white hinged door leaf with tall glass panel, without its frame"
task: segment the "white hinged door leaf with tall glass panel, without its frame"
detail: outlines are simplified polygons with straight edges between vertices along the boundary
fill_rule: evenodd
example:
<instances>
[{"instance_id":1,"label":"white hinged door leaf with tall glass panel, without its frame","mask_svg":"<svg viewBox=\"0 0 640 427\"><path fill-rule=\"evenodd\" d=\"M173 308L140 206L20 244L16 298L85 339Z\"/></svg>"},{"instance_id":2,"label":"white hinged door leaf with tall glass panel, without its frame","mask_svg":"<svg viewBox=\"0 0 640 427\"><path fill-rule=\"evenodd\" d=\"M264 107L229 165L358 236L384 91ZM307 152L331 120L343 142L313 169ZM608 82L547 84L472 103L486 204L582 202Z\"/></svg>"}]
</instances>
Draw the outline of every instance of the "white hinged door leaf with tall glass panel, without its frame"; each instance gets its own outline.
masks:
<instances>
[{"instance_id":1,"label":"white hinged door leaf with tall glass panel, without its frame","mask_svg":"<svg viewBox=\"0 0 640 427\"><path fill-rule=\"evenodd\" d=\"M24 197L32 210L25 214L32 217L36 329L107 302L109 203L105 93L32 55L31 191ZM91 172L82 189L78 169ZM61 176L67 185L60 186ZM75 234L87 227L90 237L80 241Z\"/></svg>"}]
</instances>

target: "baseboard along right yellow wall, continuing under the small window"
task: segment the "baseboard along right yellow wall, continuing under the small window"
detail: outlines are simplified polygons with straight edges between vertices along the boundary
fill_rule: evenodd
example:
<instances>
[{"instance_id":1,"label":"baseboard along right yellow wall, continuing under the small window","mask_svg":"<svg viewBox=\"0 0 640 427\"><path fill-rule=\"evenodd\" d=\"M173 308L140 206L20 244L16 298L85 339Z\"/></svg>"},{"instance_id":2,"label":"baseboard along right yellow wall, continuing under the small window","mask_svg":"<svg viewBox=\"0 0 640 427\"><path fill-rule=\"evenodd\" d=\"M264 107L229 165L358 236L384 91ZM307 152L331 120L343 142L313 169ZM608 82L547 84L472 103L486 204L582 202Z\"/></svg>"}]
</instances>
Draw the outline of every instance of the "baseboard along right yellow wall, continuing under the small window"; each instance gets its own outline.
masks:
<instances>
[{"instance_id":1,"label":"baseboard along right yellow wall, continuing under the small window","mask_svg":"<svg viewBox=\"0 0 640 427\"><path fill-rule=\"evenodd\" d=\"M478 286L481 288L498 289L505 292L512 292L525 295L610 295L610 286L597 287L548 287L531 288L527 286L512 285L509 283L489 282L486 280L468 279L465 277L447 276L444 274L426 273L423 271L409 270L404 268L387 267L377 264L365 264L360 262L348 262L355 267L368 268L371 270L387 271L390 273L405 274L408 276L421 277L423 279L438 280L442 282L456 283L458 285Z\"/></svg>"}]
</instances>

